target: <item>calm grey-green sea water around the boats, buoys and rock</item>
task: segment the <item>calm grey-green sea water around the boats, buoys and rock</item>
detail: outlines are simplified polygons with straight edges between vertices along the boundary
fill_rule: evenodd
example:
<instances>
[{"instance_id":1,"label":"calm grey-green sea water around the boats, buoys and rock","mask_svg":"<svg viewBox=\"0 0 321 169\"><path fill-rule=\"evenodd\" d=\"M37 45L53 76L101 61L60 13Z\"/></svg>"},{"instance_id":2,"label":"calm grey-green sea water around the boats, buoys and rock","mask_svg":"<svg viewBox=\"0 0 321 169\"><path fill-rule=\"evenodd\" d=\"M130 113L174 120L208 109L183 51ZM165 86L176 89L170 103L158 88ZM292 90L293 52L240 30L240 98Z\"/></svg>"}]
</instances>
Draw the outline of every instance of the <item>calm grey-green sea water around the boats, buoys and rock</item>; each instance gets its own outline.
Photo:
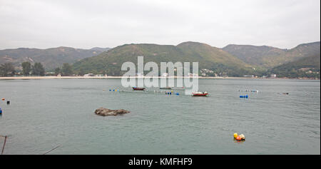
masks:
<instances>
[{"instance_id":1,"label":"calm grey-green sea water around the boats, buoys and rock","mask_svg":"<svg viewBox=\"0 0 321 169\"><path fill-rule=\"evenodd\" d=\"M210 96L133 92L120 79L0 81L0 98L11 101L0 101L4 153L61 145L51 154L320 154L320 81L200 79L199 86ZM238 91L245 89L259 93ZM96 116L100 107L131 113ZM235 142L235 132L245 142Z\"/></svg>"}]
</instances>

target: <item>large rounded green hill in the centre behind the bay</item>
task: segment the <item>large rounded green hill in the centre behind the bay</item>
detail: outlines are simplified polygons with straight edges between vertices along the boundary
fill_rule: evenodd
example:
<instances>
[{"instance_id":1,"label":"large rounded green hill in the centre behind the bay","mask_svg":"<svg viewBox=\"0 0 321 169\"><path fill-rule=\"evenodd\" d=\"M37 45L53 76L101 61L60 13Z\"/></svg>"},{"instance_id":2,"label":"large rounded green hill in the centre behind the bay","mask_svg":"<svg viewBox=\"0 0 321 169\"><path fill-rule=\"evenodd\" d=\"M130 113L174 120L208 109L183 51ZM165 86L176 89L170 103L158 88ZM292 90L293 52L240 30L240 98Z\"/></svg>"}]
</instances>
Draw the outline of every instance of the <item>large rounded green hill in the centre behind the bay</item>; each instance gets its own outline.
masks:
<instances>
[{"instance_id":1,"label":"large rounded green hill in the centre behind the bay","mask_svg":"<svg viewBox=\"0 0 321 169\"><path fill-rule=\"evenodd\" d=\"M73 64L73 69L81 73L107 73L120 76L121 65L126 61L137 64L137 56L144 56L144 62L199 62L199 69L207 68L215 73L228 76L243 76L252 73L250 65L220 48L205 43L184 42L178 46L157 44L126 44L111 48L98 56L84 58Z\"/></svg>"}]
</instances>

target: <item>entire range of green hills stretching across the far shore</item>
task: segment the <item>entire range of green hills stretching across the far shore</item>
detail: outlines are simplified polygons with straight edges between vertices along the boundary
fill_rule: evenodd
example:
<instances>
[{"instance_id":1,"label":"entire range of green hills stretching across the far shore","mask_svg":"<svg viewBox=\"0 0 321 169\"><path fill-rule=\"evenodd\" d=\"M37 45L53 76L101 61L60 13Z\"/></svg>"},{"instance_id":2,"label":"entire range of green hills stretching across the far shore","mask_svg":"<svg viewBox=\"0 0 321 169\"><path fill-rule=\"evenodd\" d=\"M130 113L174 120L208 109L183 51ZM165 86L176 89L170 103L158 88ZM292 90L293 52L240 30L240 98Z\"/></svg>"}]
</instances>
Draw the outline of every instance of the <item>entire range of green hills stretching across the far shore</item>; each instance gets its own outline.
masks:
<instances>
[{"instance_id":1,"label":"entire range of green hills stretching across the far shore","mask_svg":"<svg viewBox=\"0 0 321 169\"><path fill-rule=\"evenodd\" d=\"M30 65L41 63L46 71L54 71L55 75L94 73L121 76L126 73L121 71L122 64L130 61L137 65L138 56L144 56L144 63L158 63L158 71L161 62L198 62L198 73L202 76L276 74L277 77L320 78L320 41L303 43L292 49L234 44L216 48L192 41L177 46L132 43L111 49L16 48L0 50L0 66L5 76L21 74L23 62L30 62ZM22 70L22 74L28 75L30 71L26 73L27 69L30 68Z\"/></svg>"}]
</instances>

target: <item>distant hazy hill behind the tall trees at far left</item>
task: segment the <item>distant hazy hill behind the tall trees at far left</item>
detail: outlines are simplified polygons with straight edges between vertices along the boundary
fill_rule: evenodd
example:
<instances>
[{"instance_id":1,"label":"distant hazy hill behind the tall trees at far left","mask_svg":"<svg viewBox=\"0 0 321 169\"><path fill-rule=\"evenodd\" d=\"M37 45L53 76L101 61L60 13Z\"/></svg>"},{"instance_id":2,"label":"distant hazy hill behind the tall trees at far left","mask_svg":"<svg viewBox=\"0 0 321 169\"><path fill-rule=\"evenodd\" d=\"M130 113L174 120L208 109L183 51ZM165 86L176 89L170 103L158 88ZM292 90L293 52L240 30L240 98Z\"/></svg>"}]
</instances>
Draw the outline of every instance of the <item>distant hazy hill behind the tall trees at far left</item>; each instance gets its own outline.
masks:
<instances>
[{"instance_id":1,"label":"distant hazy hill behind the tall trees at far left","mask_svg":"<svg viewBox=\"0 0 321 169\"><path fill-rule=\"evenodd\" d=\"M41 62L47 70L52 70L63 63L74 63L91 56L98 55L108 48L15 48L0 50L0 64L13 63L16 68L20 68L21 63L29 61L31 63Z\"/></svg>"}]
</instances>

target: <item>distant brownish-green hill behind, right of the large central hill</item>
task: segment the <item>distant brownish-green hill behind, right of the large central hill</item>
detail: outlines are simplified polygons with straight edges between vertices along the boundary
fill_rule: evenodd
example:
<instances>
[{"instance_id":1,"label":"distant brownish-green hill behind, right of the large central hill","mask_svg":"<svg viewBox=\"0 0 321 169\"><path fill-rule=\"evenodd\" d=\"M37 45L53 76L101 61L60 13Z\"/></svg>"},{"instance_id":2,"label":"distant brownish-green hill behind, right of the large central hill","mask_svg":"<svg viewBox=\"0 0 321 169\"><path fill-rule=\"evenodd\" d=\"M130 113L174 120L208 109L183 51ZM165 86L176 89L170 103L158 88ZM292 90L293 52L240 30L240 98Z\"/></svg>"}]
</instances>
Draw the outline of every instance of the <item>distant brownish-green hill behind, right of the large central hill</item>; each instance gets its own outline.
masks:
<instances>
[{"instance_id":1,"label":"distant brownish-green hill behind, right of the large central hill","mask_svg":"<svg viewBox=\"0 0 321 169\"><path fill-rule=\"evenodd\" d=\"M290 50L250 45L228 45L223 50L240 58L245 63L263 68L273 68L307 56L320 55L320 41L300 44Z\"/></svg>"}]
</instances>

